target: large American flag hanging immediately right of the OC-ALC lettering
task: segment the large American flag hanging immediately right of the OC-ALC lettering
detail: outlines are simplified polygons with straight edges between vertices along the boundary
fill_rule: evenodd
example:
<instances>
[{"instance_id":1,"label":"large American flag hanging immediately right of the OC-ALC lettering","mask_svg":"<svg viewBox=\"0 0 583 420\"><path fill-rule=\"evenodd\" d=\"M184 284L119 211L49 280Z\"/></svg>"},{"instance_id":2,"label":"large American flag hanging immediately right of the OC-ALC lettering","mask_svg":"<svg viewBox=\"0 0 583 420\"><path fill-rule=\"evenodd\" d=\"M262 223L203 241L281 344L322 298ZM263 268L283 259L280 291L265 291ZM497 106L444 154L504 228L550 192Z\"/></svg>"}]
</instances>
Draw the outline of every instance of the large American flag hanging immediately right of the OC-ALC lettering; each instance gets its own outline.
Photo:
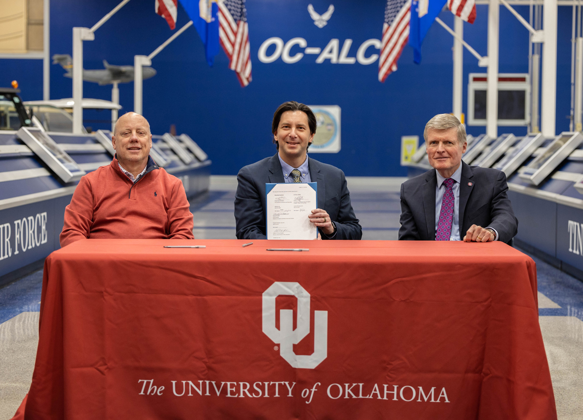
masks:
<instances>
[{"instance_id":1,"label":"large American flag hanging immediately right of the OC-ALC lettering","mask_svg":"<svg viewBox=\"0 0 583 420\"><path fill-rule=\"evenodd\" d=\"M382 25L381 57L378 80L384 82L397 69L397 61L409 39L411 0L387 0L385 23Z\"/></svg>"}]
</instances>

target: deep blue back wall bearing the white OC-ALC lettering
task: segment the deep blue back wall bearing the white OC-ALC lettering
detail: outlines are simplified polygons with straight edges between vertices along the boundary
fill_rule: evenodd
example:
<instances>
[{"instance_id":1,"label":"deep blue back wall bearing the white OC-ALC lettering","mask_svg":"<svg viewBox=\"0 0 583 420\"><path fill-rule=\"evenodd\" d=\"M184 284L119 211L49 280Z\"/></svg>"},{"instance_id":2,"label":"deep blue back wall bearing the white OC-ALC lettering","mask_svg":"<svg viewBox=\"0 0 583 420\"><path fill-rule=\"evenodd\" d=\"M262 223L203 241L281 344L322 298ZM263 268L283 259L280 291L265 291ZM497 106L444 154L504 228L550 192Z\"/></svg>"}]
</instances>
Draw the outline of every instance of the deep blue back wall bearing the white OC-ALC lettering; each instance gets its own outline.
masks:
<instances>
[{"instance_id":1,"label":"deep blue back wall bearing the white OC-ALC lettering","mask_svg":"<svg viewBox=\"0 0 583 420\"><path fill-rule=\"evenodd\" d=\"M143 114L153 133L164 133L170 124L178 133L188 133L213 160L213 174L236 174L243 165L275 153L271 143L271 118L275 108L287 100L311 105L340 105L342 108L342 150L337 154L314 154L318 160L336 165L347 175L401 176L399 165L402 135L422 137L424 124L433 115L452 108L452 37L437 23L423 44L421 65L413 63L413 52L405 47L399 69L378 82L378 61L371 65L355 63L317 64L317 55L305 55L299 62L282 59L262 63L258 50L263 41L280 37L305 38L308 47L324 49L331 38L353 40L350 57L363 41L381 38L385 2L336 0L328 24L319 29L307 12L312 3L324 13L331 0L247 0L250 27L253 81L241 88L237 77L227 68L221 51L213 68L206 64L203 46L194 28L153 59L158 74L145 80ZM72 54L72 27L91 27L109 12L118 0L51 1L51 55ZM84 43L84 67L103 68L101 61L131 65L135 54L149 54L168 38L170 31L163 18L153 11L153 0L133 0L96 31L94 41ZM517 10L528 20L528 7ZM450 27L453 15L440 15ZM177 27L188 22L179 5ZM480 54L487 55L487 6L477 6L477 19L464 24L464 37ZM570 110L571 8L559 7L559 45L557 63L557 132L568 130ZM504 7L500 8L500 72L528 72L528 31ZM273 47L271 47L273 50ZM291 55L299 52L294 47ZM271 50L270 50L271 52ZM378 52L373 47L368 55ZM477 60L464 52L463 110L466 110L468 73L486 72ZM71 79L64 70L51 65L51 98L72 96ZM17 79L24 100L42 98L40 60L0 60L0 85ZM84 84L84 96L111 99L111 86ZM133 108L133 84L120 85L122 111ZM85 125L106 128L108 111L86 111ZM478 135L483 127L468 127ZM500 128L502 132L522 135L526 128Z\"/></svg>"}]
</instances>

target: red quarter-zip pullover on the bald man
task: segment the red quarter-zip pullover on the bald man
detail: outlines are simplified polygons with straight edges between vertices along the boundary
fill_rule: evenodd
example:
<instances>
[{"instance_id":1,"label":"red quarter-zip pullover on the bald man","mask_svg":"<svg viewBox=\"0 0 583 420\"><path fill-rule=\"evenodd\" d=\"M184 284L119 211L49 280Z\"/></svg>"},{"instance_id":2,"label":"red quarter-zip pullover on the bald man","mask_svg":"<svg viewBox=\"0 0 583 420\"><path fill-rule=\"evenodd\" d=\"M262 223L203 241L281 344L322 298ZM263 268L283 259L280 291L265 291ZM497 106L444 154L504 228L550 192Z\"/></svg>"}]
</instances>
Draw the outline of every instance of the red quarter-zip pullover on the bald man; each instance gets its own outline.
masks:
<instances>
[{"instance_id":1,"label":"red quarter-zip pullover on the bald man","mask_svg":"<svg viewBox=\"0 0 583 420\"><path fill-rule=\"evenodd\" d=\"M61 246L85 238L194 239L192 228L180 179L149 159L146 174L132 183L114 158L81 178L59 239Z\"/></svg>"}]
</instances>

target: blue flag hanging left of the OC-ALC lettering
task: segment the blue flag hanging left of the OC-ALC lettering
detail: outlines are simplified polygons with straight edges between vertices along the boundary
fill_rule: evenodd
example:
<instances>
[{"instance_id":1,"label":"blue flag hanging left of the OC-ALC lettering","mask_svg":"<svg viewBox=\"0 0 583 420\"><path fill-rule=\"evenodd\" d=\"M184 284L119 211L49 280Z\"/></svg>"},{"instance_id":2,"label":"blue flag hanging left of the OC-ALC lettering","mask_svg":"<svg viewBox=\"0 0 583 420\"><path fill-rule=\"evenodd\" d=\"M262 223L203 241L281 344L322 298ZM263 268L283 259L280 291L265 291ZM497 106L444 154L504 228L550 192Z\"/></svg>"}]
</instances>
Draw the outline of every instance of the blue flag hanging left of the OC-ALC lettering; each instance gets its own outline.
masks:
<instances>
[{"instance_id":1,"label":"blue flag hanging left of the OC-ALC lettering","mask_svg":"<svg viewBox=\"0 0 583 420\"><path fill-rule=\"evenodd\" d=\"M216 0L180 0L205 45L206 62L212 66L219 54L219 6Z\"/></svg>"}]
</instances>

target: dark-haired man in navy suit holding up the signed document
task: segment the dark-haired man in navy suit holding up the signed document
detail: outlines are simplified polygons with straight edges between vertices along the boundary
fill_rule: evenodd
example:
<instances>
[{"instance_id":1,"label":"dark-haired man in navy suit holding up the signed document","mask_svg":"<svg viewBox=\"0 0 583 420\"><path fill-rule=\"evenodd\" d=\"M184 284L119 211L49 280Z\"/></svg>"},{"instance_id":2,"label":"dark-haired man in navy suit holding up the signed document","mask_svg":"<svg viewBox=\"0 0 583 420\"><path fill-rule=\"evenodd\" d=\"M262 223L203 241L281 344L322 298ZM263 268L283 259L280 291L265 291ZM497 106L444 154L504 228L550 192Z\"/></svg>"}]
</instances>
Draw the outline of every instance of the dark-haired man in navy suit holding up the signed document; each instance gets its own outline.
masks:
<instances>
[{"instance_id":1,"label":"dark-haired man in navy suit holding up the signed document","mask_svg":"<svg viewBox=\"0 0 583 420\"><path fill-rule=\"evenodd\" d=\"M321 239L360 239L362 228L350 204L344 172L308 157L316 117L304 104L283 103L273 114L278 153L247 165L237 175L235 219L238 239L265 239L265 183L317 182L318 209L308 215Z\"/></svg>"}]
</instances>

